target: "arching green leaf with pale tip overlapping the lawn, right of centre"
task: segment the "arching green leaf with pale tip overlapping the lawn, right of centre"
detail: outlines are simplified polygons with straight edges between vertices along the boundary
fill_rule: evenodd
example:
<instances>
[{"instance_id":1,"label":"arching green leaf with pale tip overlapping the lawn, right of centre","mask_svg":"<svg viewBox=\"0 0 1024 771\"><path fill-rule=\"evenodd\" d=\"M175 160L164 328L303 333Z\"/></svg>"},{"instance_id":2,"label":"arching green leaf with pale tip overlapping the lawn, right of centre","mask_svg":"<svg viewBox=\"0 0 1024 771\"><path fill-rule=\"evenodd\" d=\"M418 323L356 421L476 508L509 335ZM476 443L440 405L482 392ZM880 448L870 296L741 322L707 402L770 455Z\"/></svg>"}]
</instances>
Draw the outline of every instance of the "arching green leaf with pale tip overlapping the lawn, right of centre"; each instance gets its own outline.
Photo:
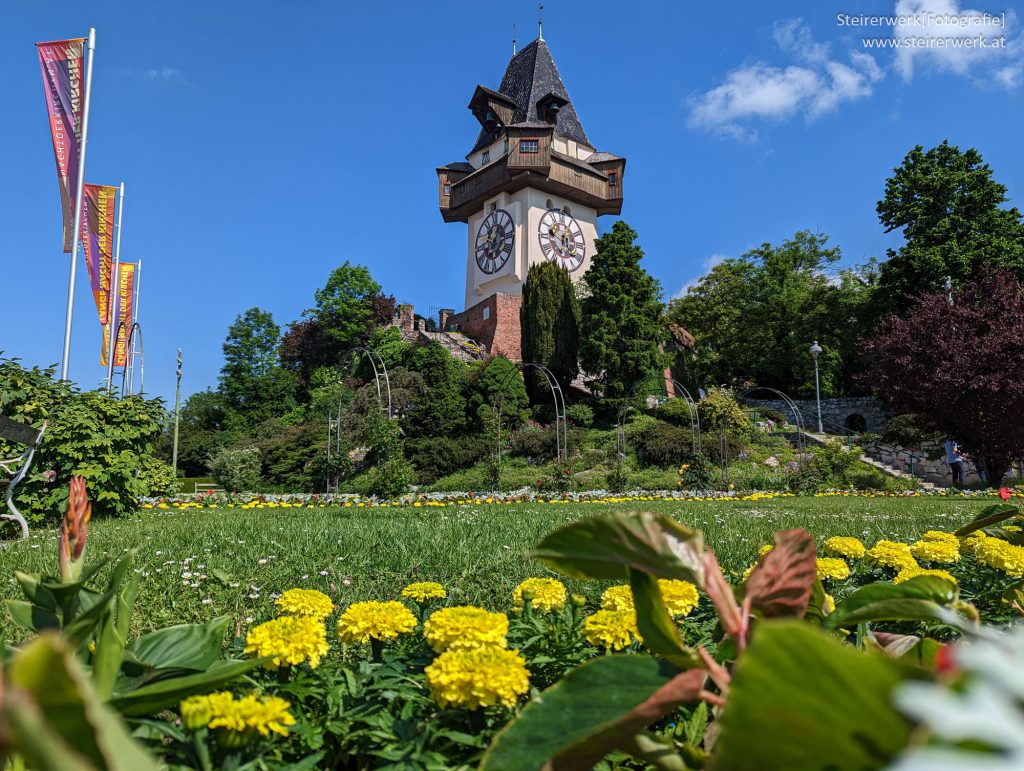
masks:
<instances>
[{"instance_id":1,"label":"arching green leaf with pale tip overlapping the lawn, right of centre","mask_svg":"<svg viewBox=\"0 0 1024 771\"><path fill-rule=\"evenodd\" d=\"M629 569L701 586L698 530L664 514L612 512L548 533L531 556L574 579L628 579Z\"/></svg>"}]
</instances>

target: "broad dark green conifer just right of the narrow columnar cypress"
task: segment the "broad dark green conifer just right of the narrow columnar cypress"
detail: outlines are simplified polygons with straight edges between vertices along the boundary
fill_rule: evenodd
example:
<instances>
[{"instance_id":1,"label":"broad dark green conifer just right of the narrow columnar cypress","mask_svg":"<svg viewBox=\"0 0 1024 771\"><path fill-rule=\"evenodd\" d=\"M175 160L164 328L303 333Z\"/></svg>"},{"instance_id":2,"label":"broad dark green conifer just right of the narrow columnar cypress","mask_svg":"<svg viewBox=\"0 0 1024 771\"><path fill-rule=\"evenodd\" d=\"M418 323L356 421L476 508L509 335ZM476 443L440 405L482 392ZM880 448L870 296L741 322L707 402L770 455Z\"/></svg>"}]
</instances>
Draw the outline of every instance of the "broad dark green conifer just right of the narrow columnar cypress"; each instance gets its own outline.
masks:
<instances>
[{"instance_id":1,"label":"broad dark green conifer just right of the narrow columnar cypress","mask_svg":"<svg viewBox=\"0 0 1024 771\"><path fill-rule=\"evenodd\" d=\"M636 238L620 220L597 240L581 309L581 365L609 399L634 396L665 358L660 288L640 266Z\"/></svg>"}]
</instances>

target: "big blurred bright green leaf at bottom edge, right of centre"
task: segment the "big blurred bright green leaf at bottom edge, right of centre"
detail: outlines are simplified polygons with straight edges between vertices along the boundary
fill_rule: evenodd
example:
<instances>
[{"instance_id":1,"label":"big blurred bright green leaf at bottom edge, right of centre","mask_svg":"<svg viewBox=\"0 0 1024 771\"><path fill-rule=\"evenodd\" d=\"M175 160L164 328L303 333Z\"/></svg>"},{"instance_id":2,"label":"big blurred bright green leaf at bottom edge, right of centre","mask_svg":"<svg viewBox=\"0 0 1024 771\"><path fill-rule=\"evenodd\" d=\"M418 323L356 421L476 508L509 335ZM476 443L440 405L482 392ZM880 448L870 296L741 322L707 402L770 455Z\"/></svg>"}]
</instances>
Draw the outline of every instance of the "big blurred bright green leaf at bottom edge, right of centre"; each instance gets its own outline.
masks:
<instances>
[{"instance_id":1,"label":"big blurred bright green leaf at bottom edge, right of centre","mask_svg":"<svg viewBox=\"0 0 1024 771\"><path fill-rule=\"evenodd\" d=\"M762 622L733 672L710 768L882 768L910 735L890 704L909 671L806 624Z\"/></svg>"}]
</instances>

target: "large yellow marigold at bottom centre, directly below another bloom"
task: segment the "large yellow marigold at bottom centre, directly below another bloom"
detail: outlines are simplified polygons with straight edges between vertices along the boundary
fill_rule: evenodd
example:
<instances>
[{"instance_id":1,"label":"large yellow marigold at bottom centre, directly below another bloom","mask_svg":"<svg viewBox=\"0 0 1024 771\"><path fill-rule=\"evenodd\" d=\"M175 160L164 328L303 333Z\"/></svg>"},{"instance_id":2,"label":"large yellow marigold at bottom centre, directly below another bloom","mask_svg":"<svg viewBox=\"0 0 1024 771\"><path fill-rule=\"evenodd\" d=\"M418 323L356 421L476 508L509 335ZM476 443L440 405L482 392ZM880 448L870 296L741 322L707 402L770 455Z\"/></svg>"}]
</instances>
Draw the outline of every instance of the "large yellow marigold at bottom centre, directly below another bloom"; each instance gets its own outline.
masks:
<instances>
[{"instance_id":1,"label":"large yellow marigold at bottom centre, directly below another bloom","mask_svg":"<svg viewBox=\"0 0 1024 771\"><path fill-rule=\"evenodd\" d=\"M441 706L512 708L529 688L529 672L519 651L494 646L447 650L424 672L430 694Z\"/></svg>"}]
</instances>

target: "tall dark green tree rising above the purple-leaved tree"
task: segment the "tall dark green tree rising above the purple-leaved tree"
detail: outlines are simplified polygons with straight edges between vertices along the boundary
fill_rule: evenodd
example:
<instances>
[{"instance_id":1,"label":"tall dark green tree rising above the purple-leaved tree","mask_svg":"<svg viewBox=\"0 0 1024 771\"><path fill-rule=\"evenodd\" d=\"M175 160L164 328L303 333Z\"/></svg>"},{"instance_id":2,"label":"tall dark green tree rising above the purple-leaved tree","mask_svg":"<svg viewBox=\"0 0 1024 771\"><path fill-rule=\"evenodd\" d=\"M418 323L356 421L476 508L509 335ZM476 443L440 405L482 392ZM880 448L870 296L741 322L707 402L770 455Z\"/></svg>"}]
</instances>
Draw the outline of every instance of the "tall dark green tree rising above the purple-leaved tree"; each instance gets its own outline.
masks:
<instances>
[{"instance_id":1,"label":"tall dark green tree rising above the purple-leaved tree","mask_svg":"<svg viewBox=\"0 0 1024 771\"><path fill-rule=\"evenodd\" d=\"M902 312L914 298L976 280L982 267L1005 267L1024 280L1024 222L1004 208L1007 188L981 154L943 141L911 149L886 181L878 203L886 232L905 243L882 265L885 311Z\"/></svg>"}]
</instances>

